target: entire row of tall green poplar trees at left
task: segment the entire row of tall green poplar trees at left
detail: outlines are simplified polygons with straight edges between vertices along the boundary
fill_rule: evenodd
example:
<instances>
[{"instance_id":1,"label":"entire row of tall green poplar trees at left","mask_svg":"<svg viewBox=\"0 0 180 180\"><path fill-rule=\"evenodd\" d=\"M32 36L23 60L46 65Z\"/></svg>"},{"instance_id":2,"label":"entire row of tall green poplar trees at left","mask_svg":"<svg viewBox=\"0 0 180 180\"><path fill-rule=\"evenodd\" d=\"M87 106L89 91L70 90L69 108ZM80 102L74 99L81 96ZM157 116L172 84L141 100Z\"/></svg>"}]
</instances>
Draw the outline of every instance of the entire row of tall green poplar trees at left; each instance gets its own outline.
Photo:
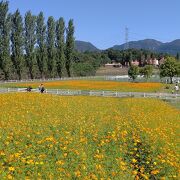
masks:
<instances>
[{"instance_id":1,"label":"entire row of tall green poplar trees at left","mask_svg":"<svg viewBox=\"0 0 180 180\"><path fill-rule=\"evenodd\" d=\"M43 12L30 11L23 18L16 10L8 12L8 2L0 2L0 69L4 79L22 77L62 77L72 75L74 24L68 27L61 17L50 16L45 23Z\"/></svg>"}]
</instances>

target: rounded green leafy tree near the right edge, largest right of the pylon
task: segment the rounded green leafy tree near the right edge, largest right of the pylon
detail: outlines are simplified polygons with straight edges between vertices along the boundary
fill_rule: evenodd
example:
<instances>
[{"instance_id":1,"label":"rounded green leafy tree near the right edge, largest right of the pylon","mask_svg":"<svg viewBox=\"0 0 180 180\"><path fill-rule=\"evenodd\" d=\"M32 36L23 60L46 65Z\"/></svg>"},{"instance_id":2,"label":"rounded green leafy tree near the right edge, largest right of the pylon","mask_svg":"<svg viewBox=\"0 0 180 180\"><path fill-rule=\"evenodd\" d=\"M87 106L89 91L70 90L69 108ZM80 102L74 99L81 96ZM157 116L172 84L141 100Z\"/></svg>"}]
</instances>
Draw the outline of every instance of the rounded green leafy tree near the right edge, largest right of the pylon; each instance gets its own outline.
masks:
<instances>
[{"instance_id":1,"label":"rounded green leafy tree near the right edge, largest right of the pylon","mask_svg":"<svg viewBox=\"0 0 180 180\"><path fill-rule=\"evenodd\" d=\"M167 57L164 64L160 66L160 76L170 77L171 83L172 78L179 74L179 65L175 58Z\"/></svg>"}]
</instances>

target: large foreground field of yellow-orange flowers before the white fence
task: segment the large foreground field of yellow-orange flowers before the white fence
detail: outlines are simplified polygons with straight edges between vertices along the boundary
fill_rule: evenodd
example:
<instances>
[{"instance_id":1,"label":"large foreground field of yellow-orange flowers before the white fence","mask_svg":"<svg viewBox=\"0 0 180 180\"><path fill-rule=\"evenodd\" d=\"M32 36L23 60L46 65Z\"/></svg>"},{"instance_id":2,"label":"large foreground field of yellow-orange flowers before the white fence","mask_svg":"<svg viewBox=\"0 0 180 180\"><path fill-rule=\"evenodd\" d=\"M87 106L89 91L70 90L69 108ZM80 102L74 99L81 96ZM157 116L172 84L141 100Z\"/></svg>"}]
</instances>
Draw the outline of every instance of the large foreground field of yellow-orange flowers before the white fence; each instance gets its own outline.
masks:
<instances>
[{"instance_id":1,"label":"large foreground field of yellow-orange flowers before the white fence","mask_svg":"<svg viewBox=\"0 0 180 180\"><path fill-rule=\"evenodd\" d=\"M160 100L0 95L1 179L178 179L180 111Z\"/></svg>"}]
</instances>

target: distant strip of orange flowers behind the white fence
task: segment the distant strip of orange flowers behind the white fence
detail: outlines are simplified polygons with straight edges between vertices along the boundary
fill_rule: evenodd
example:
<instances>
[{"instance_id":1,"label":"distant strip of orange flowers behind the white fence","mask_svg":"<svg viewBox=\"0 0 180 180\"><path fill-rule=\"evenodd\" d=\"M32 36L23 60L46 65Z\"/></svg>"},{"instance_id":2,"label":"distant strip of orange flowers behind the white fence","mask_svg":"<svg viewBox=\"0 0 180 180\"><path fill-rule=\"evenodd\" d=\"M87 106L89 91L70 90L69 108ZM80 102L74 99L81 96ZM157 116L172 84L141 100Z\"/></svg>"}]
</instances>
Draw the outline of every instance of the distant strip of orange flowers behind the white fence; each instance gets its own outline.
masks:
<instances>
[{"instance_id":1,"label":"distant strip of orange flowers behind the white fence","mask_svg":"<svg viewBox=\"0 0 180 180\"><path fill-rule=\"evenodd\" d=\"M17 83L6 84L7 87L28 87L37 88L40 83ZM43 83L46 88L53 89L78 89L78 90L114 90L123 92L157 92L163 88L161 83L132 83L115 81L92 81L92 80L69 80L52 81Z\"/></svg>"}]
</instances>

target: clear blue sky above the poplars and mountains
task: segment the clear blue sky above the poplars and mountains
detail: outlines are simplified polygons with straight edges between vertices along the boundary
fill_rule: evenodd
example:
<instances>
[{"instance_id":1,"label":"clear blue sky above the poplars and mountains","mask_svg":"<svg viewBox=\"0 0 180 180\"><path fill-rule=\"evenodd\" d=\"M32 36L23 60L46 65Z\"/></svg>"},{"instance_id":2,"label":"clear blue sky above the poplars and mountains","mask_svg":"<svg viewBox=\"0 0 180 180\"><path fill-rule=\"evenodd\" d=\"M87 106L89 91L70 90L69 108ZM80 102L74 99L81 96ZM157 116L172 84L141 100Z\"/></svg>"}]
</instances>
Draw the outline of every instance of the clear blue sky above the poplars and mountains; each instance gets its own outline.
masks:
<instances>
[{"instance_id":1,"label":"clear blue sky above the poplars and mountains","mask_svg":"<svg viewBox=\"0 0 180 180\"><path fill-rule=\"evenodd\" d=\"M74 19L76 40L89 41L100 49L129 41L180 39L180 0L9 0L10 12L19 9L46 19Z\"/></svg>"}]
</instances>

